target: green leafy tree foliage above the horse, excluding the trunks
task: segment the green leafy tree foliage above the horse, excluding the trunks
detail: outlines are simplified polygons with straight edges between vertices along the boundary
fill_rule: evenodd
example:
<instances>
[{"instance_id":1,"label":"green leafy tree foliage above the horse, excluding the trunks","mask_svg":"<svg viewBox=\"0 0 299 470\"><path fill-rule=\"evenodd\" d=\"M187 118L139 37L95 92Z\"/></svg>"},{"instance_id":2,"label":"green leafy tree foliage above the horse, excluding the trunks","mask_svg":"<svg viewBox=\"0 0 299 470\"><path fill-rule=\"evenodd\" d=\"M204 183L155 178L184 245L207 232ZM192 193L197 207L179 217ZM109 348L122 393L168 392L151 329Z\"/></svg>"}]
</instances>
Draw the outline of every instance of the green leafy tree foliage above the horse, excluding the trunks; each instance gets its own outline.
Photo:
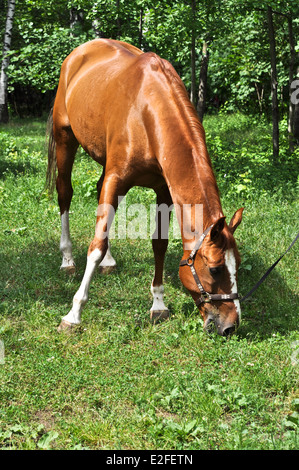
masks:
<instances>
[{"instance_id":1,"label":"green leafy tree foliage above the horse, excluding the trunks","mask_svg":"<svg viewBox=\"0 0 299 470\"><path fill-rule=\"evenodd\" d=\"M199 80L202 43L208 43L208 105L213 110L215 96L226 109L270 113L270 60L266 10L275 11L279 100L287 111L290 46L287 18L293 18L295 45L298 5L222 0L191 0L154 4L147 0L59 0L17 2L9 90L55 90L62 61L80 43L94 37L121 39L152 50L168 59L186 87L191 86L191 37L195 37L196 76ZM72 27L70 10L81 13ZM287 16L283 16L287 15ZM142 29L141 20L142 19ZM0 23L4 29L4 23ZM26 88L27 87L27 88ZM32 93L32 91L31 91ZM20 99L19 95L15 98ZM13 100L12 100L13 101Z\"/></svg>"}]
</instances>

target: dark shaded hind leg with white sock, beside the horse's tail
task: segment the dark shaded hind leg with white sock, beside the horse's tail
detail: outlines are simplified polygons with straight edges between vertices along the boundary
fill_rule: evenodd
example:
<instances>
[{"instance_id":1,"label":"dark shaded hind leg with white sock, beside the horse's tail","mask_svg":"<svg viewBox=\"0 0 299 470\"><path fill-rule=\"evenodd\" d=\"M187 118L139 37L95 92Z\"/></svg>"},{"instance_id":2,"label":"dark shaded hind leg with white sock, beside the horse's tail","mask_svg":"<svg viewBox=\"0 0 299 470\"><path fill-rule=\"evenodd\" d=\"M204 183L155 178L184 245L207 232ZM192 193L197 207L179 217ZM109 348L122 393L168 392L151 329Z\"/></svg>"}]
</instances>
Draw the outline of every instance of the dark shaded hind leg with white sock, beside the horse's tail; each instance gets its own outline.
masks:
<instances>
[{"instance_id":1,"label":"dark shaded hind leg with white sock, beside the horse's tail","mask_svg":"<svg viewBox=\"0 0 299 470\"><path fill-rule=\"evenodd\" d=\"M69 274L75 271L75 262L72 255L72 242L69 229L69 209L73 196L71 173L78 149L78 142L70 127L56 132L56 160L58 175L56 189L61 217L60 251L62 264L60 269Z\"/></svg>"}]
</instances>

